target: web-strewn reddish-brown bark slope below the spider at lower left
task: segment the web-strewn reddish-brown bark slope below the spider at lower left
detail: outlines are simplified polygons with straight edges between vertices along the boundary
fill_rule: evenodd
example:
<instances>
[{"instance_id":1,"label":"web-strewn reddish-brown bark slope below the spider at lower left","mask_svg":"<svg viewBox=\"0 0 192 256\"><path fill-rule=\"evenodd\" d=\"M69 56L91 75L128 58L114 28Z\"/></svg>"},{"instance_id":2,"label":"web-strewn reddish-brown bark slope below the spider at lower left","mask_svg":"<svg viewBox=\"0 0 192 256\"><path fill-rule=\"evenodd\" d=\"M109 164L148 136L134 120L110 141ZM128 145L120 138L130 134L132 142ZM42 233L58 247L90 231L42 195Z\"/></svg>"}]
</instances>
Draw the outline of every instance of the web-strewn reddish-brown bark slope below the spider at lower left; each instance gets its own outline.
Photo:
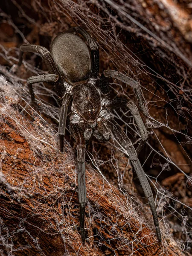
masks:
<instances>
[{"instance_id":1,"label":"web-strewn reddish-brown bark slope below the spider at lower left","mask_svg":"<svg viewBox=\"0 0 192 256\"><path fill-rule=\"evenodd\" d=\"M1 106L2 107L2 106ZM15 111L15 119L29 132L35 122ZM125 201L122 192L110 186L86 165L88 207L86 227L90 239L81 244L76 161L67 159L46 145L46 151L34 154L27 138L20 135L12 117L1 117L1 221L7 227L8 244L19 248L15 255L184 255L176 244L163 238L159 245L154 230L138 219L134 204ZM46 138L47 139L47 138ZM55 138L50 138L54 140ZM41 154L42 153L42 154ZM65 164L64 164L65 163ZM93 208L93 209L92 209ZM97 215L93 214L94 210ZM144 208L143 208L144 210ZM151 219L149 208L145 207ZM95 212L94 212L95 213ZM151 219L152 220L152 219ZM152 222L149 221L148 226ZM163 225L161 225L163 229ZM152 232L152 233L151 233ZM135 240L137 234L137 240ZM94 235L94 237L93 237ZM101 247L95 247L99 237ZM139 241L139 242L138 242ZM171 245L172 244L172 245ZM25 250L21 250L21 248ZM26 247L25 247L26 246ZM30 247L30 248L29 248ZM1 247L11 252L5 244ZM14 252L13 252L14 253Z\"/></svg>"}]
</instances>

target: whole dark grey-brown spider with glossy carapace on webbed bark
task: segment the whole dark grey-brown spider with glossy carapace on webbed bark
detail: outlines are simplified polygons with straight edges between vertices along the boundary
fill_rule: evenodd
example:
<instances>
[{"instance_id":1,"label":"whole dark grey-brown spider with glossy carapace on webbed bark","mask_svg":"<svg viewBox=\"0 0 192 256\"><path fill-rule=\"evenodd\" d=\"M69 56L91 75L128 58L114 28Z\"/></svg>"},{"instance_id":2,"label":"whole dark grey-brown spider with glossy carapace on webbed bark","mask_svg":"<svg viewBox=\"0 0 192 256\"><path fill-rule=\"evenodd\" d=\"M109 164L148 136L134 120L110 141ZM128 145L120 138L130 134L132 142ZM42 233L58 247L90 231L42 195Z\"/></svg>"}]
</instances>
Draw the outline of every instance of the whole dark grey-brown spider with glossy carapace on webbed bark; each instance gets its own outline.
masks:
<instances>
[{"instance_id":1,"label":"whole dark grey-brown spider with glossy carapace on webbed bark","mask_svg":"<svg viewBox=\"0 0 192 256\"><path fill-rule=\"evenodd\" d=\"M88 46L85 41L87 41ZM138 154L148 139L145 125L134 102L127 99L113 99L110 101L106 97L110 90L108 77L118 79L134 88L139 106L147 116L148 112L143 103L142 92L137 81L115 70L105 70L100 76L99 86L96 87L99 73L99 49L96 41L79 26L56 36L51 44L51 53L45 47L39 45L21 45L19 66L23 60L23 52L34 52L40 55L47 64L50 73L32 76L27 79L31 103L34 104L35 102L32 84L44 81L55 84L55 92L62 101L58 126L60 150L62 152L64 150L66 119L67 117L70 119L70 131L77 143L78 194L82 242L84 243L86 238L84 229L87 202L85 145L92 134L100 142L106 142L110 140L111 132L130 157L145 197L151 207L157 238L160 242L161 233L153 193L138 159ZM137 123L141 136L141 143L137 149L134 148L131 140L110 114L111 110L117 108L128 108Z\"/></svg>"}]
</instances>

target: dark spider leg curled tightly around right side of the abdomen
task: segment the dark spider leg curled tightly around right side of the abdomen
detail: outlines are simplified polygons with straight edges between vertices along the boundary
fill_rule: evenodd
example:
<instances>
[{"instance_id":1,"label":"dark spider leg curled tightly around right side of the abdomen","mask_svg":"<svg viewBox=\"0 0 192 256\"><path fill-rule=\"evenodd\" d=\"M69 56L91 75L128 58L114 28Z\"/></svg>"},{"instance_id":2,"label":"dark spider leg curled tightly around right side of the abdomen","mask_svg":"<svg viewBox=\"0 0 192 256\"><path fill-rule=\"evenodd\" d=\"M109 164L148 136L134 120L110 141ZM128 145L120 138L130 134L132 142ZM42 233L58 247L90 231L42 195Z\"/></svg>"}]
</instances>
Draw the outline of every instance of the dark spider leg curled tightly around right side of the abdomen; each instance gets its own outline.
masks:
<instances>
[{"instance_id":1,"label":"dark spider leg curled tightly around right side of the abdomen","mask_svg":"<svg viewBox=\"0 0 192 256\"><path fill-rule=\"evenodd\" d=\"M81 26L77 26L74 28L71 28L68 30L69 32L75 31L78 32L80 35L82 35L89 47L90 47L90 54L91 54L91 74L90 79L97 79L98 73L99 73L99 49L96 44L96 41L94 38L92 38L87 31L85 31Z\"/></svg>"}]
</instances>

